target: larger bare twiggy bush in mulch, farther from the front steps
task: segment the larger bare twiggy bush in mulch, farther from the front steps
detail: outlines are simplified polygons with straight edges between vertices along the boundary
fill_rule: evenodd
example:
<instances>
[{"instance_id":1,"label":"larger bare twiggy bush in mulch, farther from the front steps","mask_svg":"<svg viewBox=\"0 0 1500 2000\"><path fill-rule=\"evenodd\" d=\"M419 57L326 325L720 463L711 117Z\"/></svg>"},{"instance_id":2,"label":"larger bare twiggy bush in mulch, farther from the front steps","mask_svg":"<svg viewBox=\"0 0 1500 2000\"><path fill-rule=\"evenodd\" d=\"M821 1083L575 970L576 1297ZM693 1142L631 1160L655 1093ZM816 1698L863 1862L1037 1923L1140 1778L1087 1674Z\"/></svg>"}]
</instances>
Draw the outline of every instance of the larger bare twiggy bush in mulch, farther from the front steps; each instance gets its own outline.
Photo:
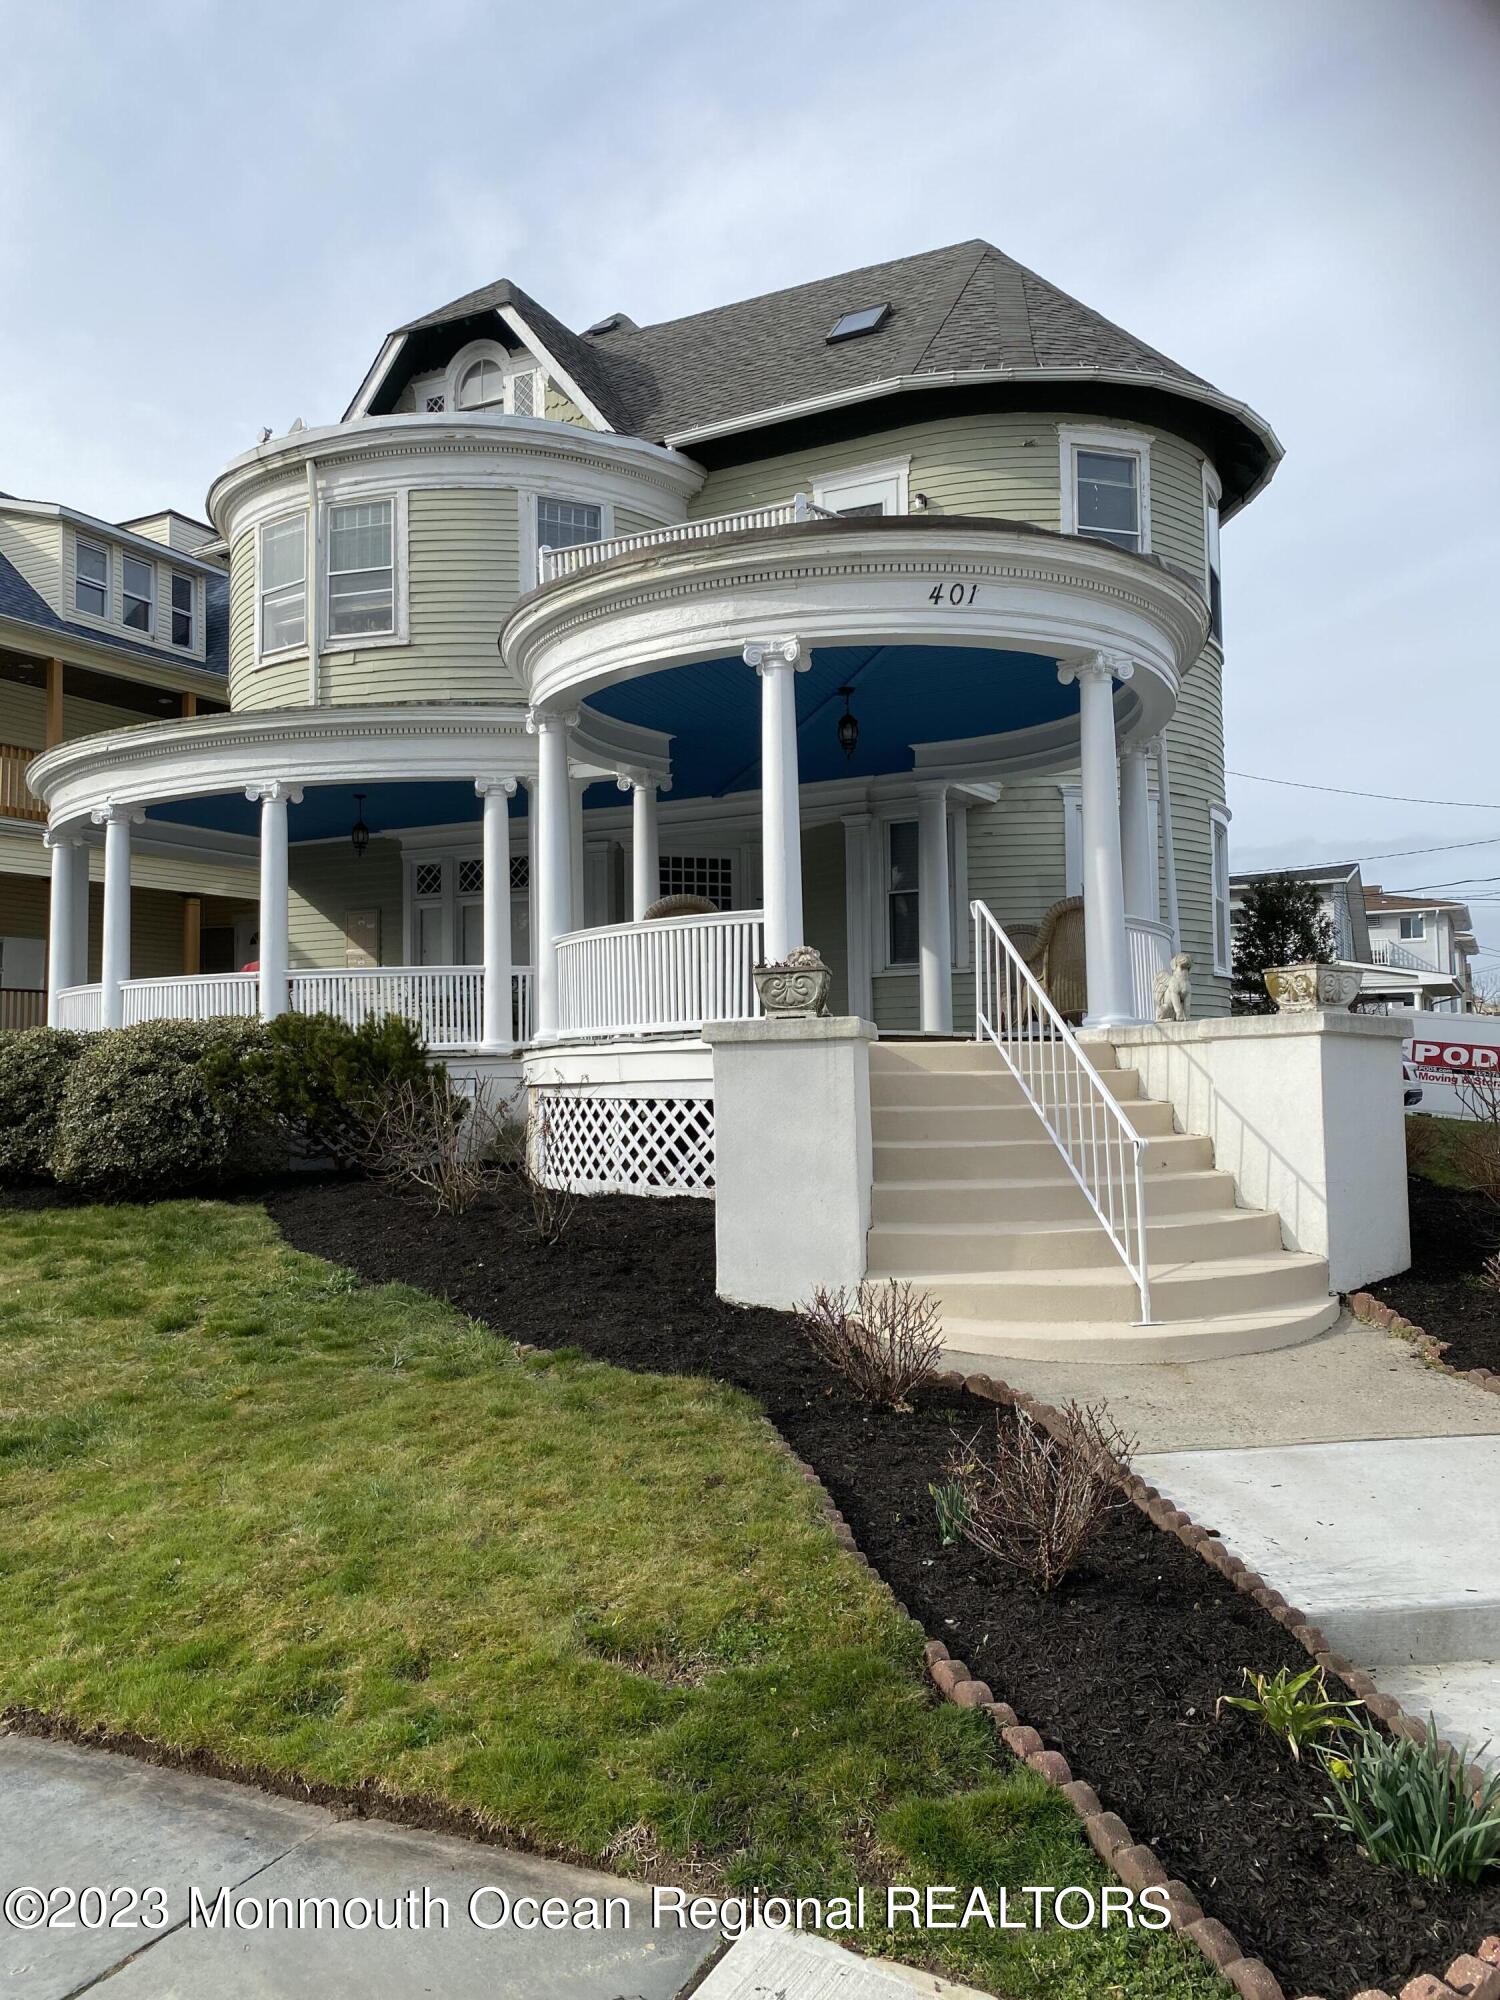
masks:
<instances>
[{"instance_id":1,"label":"larger bare twiggy bush in mulch, farther from the front steps","mask_svg":"<svg viewBox=\"0 0 1500 2000\"><path fill-rule=\"evenodd\" d=\"M944 1468L968 1498L968 1540L1050 1592L1116 1506L1136 1448L1106 1406L1070 1402L1056 1436L1026 1410L996 1416L994 1444L978 1434Z\"/></svg>"}]
</instances>

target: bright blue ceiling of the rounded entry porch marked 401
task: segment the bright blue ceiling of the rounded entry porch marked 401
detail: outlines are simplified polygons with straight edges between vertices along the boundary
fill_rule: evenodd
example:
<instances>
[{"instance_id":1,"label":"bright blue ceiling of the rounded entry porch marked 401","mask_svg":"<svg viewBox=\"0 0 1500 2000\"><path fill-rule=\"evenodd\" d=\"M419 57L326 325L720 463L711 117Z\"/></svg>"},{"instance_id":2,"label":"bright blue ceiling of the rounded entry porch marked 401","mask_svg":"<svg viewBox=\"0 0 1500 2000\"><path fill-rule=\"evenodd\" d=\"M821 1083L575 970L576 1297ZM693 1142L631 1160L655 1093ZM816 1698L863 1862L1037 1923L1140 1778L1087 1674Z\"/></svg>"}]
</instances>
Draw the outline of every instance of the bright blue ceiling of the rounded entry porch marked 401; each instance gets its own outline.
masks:
<instances>
[{"instance_id":1,"label":"bright blue ceiling of the rounded entry porch marked 401","mask_svg":"<svg viewBox=\"0 0 1500 2000\"><path fill-rule=\"evenodd\" d=\"M844 700L860 742L846 758L836 736ZM738 658L672 666L588 698L620 722L672 736L672 796L718 798L760 788L760 680ZM912 770L914 742L1004 736L1078 714L1078 688L1056 660L978 646L820 646L796 676L798 768L822 778L880 778ZM598 800L602 804L602 798ZM594 804L590 794L588 804Z\"/></svg>"}]
</instances>

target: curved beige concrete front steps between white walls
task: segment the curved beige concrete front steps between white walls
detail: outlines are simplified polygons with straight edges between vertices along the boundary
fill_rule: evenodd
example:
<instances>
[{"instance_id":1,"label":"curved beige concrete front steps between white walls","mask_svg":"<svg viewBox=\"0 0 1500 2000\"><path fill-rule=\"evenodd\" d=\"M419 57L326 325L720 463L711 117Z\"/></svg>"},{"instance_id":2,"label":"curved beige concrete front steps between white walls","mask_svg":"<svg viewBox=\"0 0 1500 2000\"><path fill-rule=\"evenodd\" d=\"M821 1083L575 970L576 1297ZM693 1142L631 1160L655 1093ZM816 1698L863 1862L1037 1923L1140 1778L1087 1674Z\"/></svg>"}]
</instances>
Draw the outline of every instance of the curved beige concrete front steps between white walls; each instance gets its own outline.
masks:
<instances>
[{"instance_id":1,"label":"curved beige concrete front steps between white walls","mask_svg":"<svg viewBox=\"0 0 1500 2000\"><path fill-rule=\"evenodd\" d=\"M1040 1118L994 1048L870 1050L872 1278L942 1302L970 1356L1202 1360L1284 1348L1338 1316L1328 1266L1282 1248L1280 1218L1240 1208L1206 1138L1176 1132L1108 1044L1090 1060L1146 1148L1154 1324Z\"/></svg>"}]
</instances>

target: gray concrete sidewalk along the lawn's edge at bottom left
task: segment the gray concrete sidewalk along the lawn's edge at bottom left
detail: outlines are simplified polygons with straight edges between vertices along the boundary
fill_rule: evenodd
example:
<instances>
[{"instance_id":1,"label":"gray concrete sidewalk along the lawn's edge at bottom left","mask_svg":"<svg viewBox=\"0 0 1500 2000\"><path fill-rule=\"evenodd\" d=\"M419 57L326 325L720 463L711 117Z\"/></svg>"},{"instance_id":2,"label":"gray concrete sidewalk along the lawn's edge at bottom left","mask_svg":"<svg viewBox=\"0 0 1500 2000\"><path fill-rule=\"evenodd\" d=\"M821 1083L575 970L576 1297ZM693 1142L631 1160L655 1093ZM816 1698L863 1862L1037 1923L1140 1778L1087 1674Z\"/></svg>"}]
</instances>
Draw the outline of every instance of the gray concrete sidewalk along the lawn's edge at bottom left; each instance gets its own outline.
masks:
<instances>
[{"instance_id":1,"label":"gray concrete sidewalk along the lawn's edge at bottom left","mask_svg":"<svg viewBox=\"0 0 1500 2000\"><path fill-rule=\"evenodd\" d=\"M512 1854L248 1786L158 1770L72 1744L0 1736L0 1898L16 1888L160 1888L168 1926L18 1928L0 1914L0 1994L72 2000L676 2000L718 1950L708 1932L650 1926L644 1890L616 1876ZM236 1920L194 1924L190 1888ZM628 1928L486 1930L500 1894L626 1898ZM396 1930L248 1928L266 1898L382 1898ZM446 1924L440 1910L446 1910ZM58 1910L84 1918L90 1910ZM358 1920L358 1908L352 1914Z\"/></svg>"}]
</instances>

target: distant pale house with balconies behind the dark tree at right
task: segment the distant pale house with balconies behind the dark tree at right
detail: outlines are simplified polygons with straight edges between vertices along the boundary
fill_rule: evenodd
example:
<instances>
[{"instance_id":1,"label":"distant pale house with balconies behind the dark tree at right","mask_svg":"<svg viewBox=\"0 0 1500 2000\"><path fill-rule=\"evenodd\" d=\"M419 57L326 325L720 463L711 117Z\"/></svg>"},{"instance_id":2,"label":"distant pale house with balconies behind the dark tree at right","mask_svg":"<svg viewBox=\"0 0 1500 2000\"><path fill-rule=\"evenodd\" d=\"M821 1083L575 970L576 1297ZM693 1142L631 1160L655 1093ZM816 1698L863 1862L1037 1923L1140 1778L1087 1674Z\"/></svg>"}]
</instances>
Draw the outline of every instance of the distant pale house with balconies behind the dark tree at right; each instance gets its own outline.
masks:
<instances>
[{"instance_id":1,"label":"distant pale house with balconies behind the dark tree at right","mask_svg":"<svg viewBox=\"0 0 1500 2000\"><path fill-rule=\"evenodd\" d=\"M1230 878L1230 916L1238 924L1244 892L1276 876L1310 882L1334 926L1340 962L1362 972L1360 1006L1368 1012L1426 1008L1466 1012L1474 988L1470 956L1478 950L1468 908L1366 888L1358 862L1314 868L1260 868Z\"/></svg>"}]
</instances>

